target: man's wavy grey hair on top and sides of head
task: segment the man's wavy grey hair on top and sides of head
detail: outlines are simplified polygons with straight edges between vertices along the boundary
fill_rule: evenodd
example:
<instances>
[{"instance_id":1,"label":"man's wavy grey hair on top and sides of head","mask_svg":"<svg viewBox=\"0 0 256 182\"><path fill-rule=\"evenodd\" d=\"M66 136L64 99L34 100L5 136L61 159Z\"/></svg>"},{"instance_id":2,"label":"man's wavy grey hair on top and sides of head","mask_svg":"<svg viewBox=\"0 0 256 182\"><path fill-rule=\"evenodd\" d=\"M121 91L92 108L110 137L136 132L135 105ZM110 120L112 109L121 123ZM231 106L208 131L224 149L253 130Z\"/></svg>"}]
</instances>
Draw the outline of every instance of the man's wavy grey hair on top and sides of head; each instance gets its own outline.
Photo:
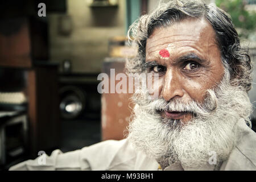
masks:
<instances>
[{"instance_id":1,"label":"man's wavy grey hair on top and sides of head","mask_svg":"<svg viewBox=\"0 0 256 182\"><path fill-rule=\"evenodd\" d=\"M170 26L185 18L205 18L216 32L222 63L230 73L230 83L249 91L251 89L252 65L249 53L241 47L240 39L230 16L214 5L201 0L173 0L159 3L151 14L143 15L128 31L128 38L138 46L138 53L126 61L128 73L143 72L146 56L146 41L155 28Z\"/></svg>"}]
</instances>

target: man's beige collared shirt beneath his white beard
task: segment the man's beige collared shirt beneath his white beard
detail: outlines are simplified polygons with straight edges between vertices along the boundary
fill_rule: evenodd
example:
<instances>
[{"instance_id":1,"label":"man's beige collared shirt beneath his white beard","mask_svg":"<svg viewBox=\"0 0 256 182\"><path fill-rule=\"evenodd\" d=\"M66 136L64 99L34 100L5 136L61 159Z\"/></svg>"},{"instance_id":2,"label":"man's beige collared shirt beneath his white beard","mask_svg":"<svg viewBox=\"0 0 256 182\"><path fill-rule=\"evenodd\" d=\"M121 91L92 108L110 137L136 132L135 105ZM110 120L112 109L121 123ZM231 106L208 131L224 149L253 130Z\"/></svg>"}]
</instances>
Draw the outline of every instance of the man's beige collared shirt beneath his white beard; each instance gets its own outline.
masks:
<instances>
[{"instance_id":1,"label":"man's beige collared shirt beneath his white beard","mask_svg":"<svg viewBox=\"0 0 256 182\"><path fill-rule=\"evenodd\" d=\"M238 122L241 140L230 152L228 160L223 162L220 170L256 170L256 133L242 119ZM46 160L39 156L16 164L10 170L159 170L159 164L137 151L127 139L106 140L81 150L63 153L55 150ZM42 161L45 163L42 164ZM186 168L173 164L164 168L168 170L213 170L214 165L200 168Z\"/></svg>"}]
</instances>

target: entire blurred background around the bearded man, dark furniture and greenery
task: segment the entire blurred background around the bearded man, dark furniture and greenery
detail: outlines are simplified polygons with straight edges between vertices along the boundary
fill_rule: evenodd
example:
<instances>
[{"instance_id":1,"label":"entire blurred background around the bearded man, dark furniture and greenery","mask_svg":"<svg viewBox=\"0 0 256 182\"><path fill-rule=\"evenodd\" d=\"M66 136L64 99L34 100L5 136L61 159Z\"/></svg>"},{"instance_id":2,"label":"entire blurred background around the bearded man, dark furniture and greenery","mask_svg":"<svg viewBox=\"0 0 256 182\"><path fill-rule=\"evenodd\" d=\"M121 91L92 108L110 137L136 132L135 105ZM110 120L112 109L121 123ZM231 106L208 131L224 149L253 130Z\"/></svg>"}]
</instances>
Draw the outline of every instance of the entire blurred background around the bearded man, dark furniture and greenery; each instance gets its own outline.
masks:
<instances>
[{"instance_id":1,"label":"entire blurred background around the bearded man, dark furniture and greenery","mask_svg":"<svg viewBox=\"0 0 256 182\"><path fill-rule=\"evenodd\" d=\"M206 2L232 16L242 45L255 60L256 0ZM110 75L110 68L124 73L126 57L136 53L127 44L127 30L158 3L0 2L0 169L34 159L39 151L50 155L57 148L67 152L124 138L131 94L98 93L97 76ZM255 106L255 84L249 96ZM256 111L251 117L254 123Z\"/></svg>"}]
</instances>

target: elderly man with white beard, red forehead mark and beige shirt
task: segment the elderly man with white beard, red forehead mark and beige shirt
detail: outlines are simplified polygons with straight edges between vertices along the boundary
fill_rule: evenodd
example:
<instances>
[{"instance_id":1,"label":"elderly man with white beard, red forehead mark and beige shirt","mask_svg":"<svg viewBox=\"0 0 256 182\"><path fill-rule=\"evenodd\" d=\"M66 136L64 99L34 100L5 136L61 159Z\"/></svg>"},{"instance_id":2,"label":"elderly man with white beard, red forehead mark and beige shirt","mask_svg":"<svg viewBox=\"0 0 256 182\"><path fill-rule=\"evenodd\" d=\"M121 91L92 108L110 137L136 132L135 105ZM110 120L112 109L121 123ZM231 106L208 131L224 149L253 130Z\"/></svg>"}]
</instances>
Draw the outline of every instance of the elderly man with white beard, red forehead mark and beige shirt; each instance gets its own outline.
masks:
<instances>
[{"instance_id":1,"label":"elderly man with white beard, red forehead mark and beige shirt","mask_svg":"<svg viewBox=\"0 0 256 182\"><path fill-rule=\"evenodd\" d=\"M129 36L138 45L129 73L159 79L157 98L134 94L128 137L10 169L255 170L250 57L229 16L202 1L170 1L143 15Z\"/></svg>"}]
</instances>

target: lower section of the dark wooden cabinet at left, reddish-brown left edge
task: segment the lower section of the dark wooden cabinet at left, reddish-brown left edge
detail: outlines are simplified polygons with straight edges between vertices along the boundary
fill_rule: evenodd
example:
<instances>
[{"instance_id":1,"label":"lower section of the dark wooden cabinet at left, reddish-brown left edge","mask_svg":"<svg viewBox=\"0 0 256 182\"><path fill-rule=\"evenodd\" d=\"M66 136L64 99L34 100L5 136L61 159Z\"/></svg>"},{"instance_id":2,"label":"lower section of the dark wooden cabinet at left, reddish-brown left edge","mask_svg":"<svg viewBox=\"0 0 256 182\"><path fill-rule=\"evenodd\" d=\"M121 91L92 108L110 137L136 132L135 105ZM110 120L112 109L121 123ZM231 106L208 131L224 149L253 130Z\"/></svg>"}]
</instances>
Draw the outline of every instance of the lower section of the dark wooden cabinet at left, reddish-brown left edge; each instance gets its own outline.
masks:
<instances>
[{"instance_id":1,"label":"lower section of the dark wooden cabinet at left, reddish-brown left edge","mask_svg":"<svg viewBox=\"0 0 256 182\"><path fill-rule=\"evenodd\" d=\"M41 65L27 71L30 151L52 150L60 144L57 67Z\"/></svg>"}]
</instances>

